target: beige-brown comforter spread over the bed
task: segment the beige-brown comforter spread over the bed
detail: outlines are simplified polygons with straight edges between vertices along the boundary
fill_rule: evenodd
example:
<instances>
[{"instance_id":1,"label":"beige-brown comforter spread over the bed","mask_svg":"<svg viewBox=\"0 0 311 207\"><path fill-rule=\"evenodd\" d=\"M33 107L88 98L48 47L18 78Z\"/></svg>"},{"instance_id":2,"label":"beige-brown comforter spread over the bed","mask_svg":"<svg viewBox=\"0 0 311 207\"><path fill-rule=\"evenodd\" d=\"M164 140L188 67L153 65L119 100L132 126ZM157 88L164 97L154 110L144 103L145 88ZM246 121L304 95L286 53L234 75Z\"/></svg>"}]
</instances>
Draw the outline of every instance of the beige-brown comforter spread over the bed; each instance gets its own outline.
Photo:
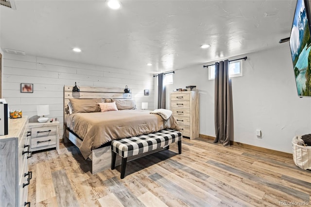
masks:
<instances>
[{"instance_id":1,"label":"beige-brown comforter spread over the bed","mask_svg":"<svg viewBox=\"0 0 311 207\"><path fill-rule=\"evenodd\" d=\"M67 127L82 141L80 151L85 159L92 149L119 138L149 134L162 129L179 130L176 120L168 120L148 110L120 110L94 113L74 113L67 117Z\"/></svg>"}]
</instances>

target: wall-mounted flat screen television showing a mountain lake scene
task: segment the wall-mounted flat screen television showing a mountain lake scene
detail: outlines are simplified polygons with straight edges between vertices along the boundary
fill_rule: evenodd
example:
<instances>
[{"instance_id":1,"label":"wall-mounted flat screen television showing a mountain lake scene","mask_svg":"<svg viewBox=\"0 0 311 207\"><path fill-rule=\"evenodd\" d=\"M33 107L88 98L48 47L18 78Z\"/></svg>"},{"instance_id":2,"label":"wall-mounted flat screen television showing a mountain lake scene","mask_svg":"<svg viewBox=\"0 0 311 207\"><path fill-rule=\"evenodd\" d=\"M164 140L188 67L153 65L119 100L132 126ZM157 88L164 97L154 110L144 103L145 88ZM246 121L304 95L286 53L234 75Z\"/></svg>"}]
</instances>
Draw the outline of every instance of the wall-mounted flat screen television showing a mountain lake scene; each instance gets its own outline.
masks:
<instances>
[{"instance_id":1,"label":"wall-mounted flat screen television showing a mountain lake scene","mask_svg":"<svg viewBox=\"0 0 311 207\"><path fill-rule=\"evenodd\" d=\"M308 0L297 0L290 49L298 96L311 96L311 36Z\"/></svg>"}]
</instances>

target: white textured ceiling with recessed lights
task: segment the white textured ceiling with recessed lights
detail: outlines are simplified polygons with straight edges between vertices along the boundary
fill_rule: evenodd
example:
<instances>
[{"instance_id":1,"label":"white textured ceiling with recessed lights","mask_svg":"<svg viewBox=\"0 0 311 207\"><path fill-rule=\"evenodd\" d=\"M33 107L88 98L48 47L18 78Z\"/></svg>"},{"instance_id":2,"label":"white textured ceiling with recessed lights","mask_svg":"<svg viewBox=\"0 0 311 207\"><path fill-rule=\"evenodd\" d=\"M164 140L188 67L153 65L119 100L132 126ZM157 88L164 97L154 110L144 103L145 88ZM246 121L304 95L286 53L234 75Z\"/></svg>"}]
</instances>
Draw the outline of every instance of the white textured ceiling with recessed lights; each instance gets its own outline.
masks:
<instances>
[{"instance_id":1,"label":"white textured ceiling with recessed lights","mask_svg":"<svg viewBox=\"0 0 311 207\"><path fill-rule=\"evenodd\" d=\"M2 50L155 73L279 46L296 0L121 0L120 10L105 0L15 4L0 6Z\"/></svg>"}]
</instances>

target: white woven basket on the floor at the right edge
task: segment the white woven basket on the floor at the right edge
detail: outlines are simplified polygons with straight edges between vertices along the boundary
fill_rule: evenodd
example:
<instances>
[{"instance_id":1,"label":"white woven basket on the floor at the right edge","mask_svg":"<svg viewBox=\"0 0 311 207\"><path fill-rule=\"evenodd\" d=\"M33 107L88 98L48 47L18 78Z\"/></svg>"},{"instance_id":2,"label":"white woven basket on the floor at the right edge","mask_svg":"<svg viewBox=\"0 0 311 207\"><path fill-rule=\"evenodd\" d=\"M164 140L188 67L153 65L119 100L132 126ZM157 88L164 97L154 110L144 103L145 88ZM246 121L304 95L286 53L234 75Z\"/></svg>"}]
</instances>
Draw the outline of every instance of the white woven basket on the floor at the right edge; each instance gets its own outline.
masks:
<instances>
[{"instance_id":1,"label":"white woven basket on the floor at the right edge","mask_svg":"<svg viewBox=\"0 0 311 207\"><path fill-rule=\"evenodd\" d=\"M301 137L295 136L292 140L294 163L301 169L311 170L311 146L306 146L299 139Z\"/></svg>"}]
</instances>

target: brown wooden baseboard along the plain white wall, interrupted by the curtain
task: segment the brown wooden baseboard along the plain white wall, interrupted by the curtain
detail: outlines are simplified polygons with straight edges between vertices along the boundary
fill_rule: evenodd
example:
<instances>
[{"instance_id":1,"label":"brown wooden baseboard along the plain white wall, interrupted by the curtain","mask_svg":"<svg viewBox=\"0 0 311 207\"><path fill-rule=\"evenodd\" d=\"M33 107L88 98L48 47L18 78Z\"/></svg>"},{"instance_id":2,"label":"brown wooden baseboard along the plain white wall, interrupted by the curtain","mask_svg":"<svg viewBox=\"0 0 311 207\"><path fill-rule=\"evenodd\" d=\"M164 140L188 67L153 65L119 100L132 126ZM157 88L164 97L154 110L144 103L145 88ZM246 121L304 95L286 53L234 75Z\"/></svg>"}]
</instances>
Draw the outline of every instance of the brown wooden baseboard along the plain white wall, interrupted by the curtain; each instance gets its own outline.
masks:
<instances>
[{"instance_id":1,"label":"brown wooden baseboard along the plain white wall, interrupted by the curtain","mask_svg":"<svg viewBox=\"0 0 311 207\"><path fill-rule=\"evenodd\" d=\"M206 138L206 139L210 139L210 140L214 140L215 137L211 137L208 135L202 135L199 134L200 138ZM235 142L235 141L230 141L230 145L235 145L235 146L240 146L246 149L251 149L251 150L256 150L262 153L270 153L272 155L279 155L279 156L283 156L283 157L288 157L288 158L292 158L293 159L293 154L290 153L284 153L284 152L280 152L280 151L276 151L276 150L271 150L271 149L267 149L267 148L263 148L263 147L257 147L254 145L249 145L249 144L244 144L241 142Z\"/></svg>"}]
</instances>

